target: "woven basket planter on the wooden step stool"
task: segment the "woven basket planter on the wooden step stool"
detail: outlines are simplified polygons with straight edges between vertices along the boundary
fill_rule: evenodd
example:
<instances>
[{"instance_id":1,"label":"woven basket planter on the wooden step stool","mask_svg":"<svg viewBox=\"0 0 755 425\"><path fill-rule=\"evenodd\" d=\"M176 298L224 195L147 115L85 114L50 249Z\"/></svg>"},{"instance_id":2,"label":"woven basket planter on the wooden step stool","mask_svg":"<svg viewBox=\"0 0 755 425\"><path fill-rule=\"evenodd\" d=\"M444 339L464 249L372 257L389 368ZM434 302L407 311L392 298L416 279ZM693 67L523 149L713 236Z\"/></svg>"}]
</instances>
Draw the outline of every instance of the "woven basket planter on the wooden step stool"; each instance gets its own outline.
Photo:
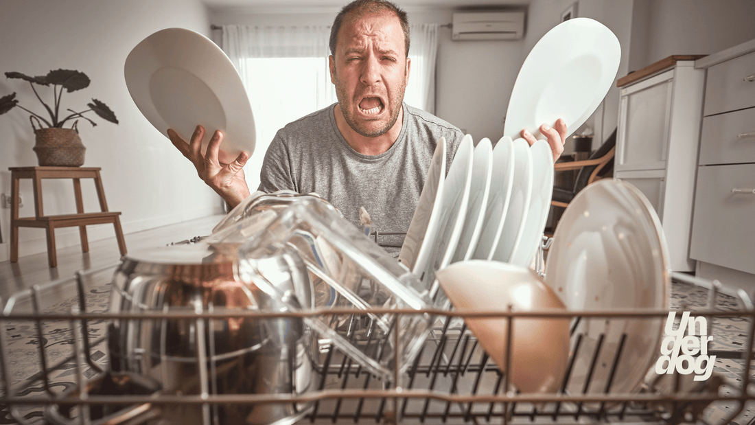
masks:
<instances>
[{"instance_id":1,"label":"woven basket planter on the wooden step stool","mask_svg":"<svg viewBox=\"0 0 755 425\"><path fill-rule=\"evenodd\" d=\"M35 131L39 165L43 167L81 167L84 151L79 132L71 128L39 128Z\"/></svg>"}]
</instances>

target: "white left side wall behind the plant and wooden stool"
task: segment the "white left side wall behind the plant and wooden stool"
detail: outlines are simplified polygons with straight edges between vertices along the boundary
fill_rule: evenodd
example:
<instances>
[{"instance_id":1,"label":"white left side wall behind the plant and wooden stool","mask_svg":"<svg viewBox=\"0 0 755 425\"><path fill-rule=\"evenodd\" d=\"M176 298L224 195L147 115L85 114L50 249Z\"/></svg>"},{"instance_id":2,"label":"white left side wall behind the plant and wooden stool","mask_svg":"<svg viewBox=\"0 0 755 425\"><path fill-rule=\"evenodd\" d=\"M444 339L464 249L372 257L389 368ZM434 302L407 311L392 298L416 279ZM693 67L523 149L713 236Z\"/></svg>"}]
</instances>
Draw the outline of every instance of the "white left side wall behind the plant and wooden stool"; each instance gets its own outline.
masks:
<instances>
[{"instance_id":1,"label":"white left side wall behind the plant and wooden stool","mask_svg":"<svg viewBox=\"0 0 755 425\"><path fill-rule=\"evenodd\" d=\"M79 122L87 146L85 167L101 167L111 211L122 211L125 232L149 229L221 211L220 198L196 175L170 141L146 121L134 105L123 76L125 58L147 35L181 26L209 35L208 12L199 0L35 0L0 2L0 72L45 75L50 69L78 69L91 79L82 91L63 94L63 107L82 110L92 97L116 113L120 125L91 118L92 128ZM16 91L26 108L42 112L25 82L0 78L0 96ZM11 192L8 167L34 166L34 135L26 112L0 115L0 190ZM85 211L98 211L94 185L85 181ZM45 214L75 212L70 180L45 180ZM21 216L32 216L31 183L22 180ZM0 210L4 244L0 261L8 259L10 210ZM112 226L90 226L90 239L112 237ZM79 244L78 229L59 229L58 246ZM46 251L45 232L20 230L20 254Z\"/></svg>"}]
</instances>

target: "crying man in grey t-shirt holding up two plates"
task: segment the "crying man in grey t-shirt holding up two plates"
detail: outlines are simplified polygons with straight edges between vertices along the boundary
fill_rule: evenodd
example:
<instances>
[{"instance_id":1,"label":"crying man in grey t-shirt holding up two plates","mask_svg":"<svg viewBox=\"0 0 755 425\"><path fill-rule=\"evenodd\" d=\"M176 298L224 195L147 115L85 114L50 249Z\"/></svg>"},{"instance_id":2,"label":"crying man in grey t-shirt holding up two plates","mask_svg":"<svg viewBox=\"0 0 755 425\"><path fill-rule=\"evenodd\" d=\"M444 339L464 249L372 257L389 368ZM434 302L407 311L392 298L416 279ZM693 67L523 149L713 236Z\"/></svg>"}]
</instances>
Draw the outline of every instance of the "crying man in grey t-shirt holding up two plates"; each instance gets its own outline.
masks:
<instances>
[{"instance_id":1,"label":"crying man in grey t-shirt holding up two plates","mask_svg":"<svg viewBox=\"0 0 755 425\"><path fill-rule=\"evenodd\" d=\"M331 27L328 57L338 103L276 134L265 155L259 189L316 192L356 226L363 206L374 229L406 232L437 141L445 137L450 165L464 136L448 122L403 103L411 69L409 44L406 14L393 3L356 0L345 6ZM557 159L565 123L559 119L554 128L543 125L540 130ZM223 140L219 131L205 156L200 152L203 128L197 127L191 143L174 131L168 135L199 177L231 207L249 196L242 171L247 152L224 165L217 161ZM529 132L522 131L522 137L535 143Z\"/></svg>"}]
</instances>

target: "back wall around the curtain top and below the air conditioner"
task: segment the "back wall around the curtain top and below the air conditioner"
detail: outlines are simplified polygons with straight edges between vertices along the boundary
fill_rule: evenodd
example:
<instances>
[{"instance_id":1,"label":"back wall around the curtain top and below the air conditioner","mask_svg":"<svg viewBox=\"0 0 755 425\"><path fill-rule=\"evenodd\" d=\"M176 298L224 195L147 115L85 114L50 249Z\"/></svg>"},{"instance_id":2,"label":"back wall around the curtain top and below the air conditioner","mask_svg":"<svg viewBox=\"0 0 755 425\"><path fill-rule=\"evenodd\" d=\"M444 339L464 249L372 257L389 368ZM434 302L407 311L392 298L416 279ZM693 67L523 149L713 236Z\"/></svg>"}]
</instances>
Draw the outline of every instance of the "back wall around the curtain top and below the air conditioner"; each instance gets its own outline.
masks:
<instances>
[{"instance_id":1,"label":"back wall around the curtain top and below the air conditioner","mask_svg":"<svg viewBox=\"0 0 755 425\"><path fill-rule=\"evenodd\" d=\"M406 8L412 23L451 23L451 8ZM211 13L216 25L331 25L338 8L288 13L226 10ZM220 32L214 39L219 42ZM453 42L451 29L439 31L436 115L472 134L475 142L503 135L504 115L519 66L522 40Z\"/></svg>"}]
</instances>

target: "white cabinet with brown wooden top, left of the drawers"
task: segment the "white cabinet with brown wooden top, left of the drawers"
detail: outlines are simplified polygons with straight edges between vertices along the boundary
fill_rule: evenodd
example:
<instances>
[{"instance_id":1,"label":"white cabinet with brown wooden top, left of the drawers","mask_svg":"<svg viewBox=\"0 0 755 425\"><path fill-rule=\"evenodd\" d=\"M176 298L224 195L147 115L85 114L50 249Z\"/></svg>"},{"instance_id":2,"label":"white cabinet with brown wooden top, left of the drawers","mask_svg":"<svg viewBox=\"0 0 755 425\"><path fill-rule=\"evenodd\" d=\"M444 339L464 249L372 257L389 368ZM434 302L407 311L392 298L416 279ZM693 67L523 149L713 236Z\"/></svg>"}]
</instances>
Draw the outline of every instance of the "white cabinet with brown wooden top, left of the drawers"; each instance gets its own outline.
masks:
<instances>
[{"instance_id":1,"label":"white cabinet with brown wooden top, left of the drawers","mask_svg":"<svg viewBox=\"0 0 755 425\"><path fill-rule=\"evenodd\" d=\"M633 81L626 82L632 74L619 80L614 176L645 194L661 219L671 268L689 272L705 72L694 60L660 64L648 67L655 72L637 71L646 75Z\"/></svg>"}]
</instances>

